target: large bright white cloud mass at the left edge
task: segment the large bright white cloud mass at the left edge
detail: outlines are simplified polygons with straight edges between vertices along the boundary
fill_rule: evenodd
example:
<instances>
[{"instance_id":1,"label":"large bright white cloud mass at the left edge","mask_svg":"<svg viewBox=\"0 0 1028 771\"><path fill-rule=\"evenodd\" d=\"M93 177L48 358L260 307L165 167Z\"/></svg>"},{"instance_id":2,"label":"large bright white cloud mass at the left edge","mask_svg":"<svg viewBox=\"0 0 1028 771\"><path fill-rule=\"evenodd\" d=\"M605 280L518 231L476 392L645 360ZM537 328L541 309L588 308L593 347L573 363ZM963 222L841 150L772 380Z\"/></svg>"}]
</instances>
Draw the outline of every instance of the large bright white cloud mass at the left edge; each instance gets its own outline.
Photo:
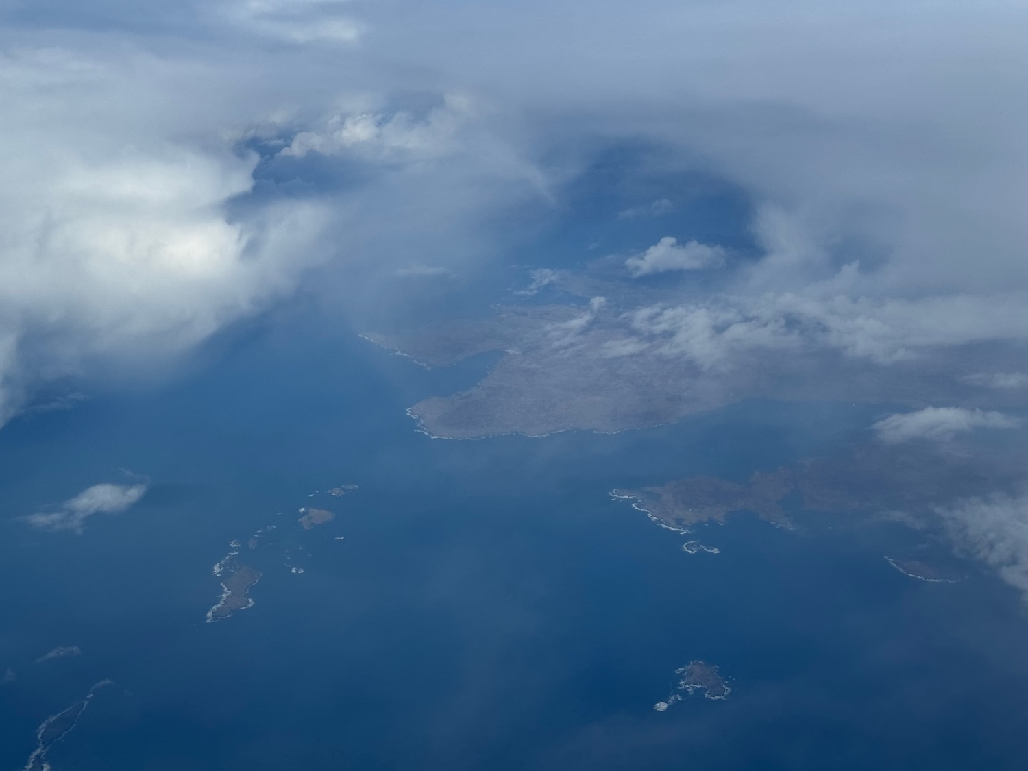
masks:
<instances>
[{"instance_id":1,"label":"large bright white cloud mass at the left edge","mask_svg":"<svg viewBox=\"0 0 1028 771\"><path fill-rule=\"evenodd\" d=\"M175 96L206 66L132 50L0 59L0 425L47 381L188 351L321 258L324 205L248 203L258 156L235 146L225 108Z\"/></svg>"}]
</instances>

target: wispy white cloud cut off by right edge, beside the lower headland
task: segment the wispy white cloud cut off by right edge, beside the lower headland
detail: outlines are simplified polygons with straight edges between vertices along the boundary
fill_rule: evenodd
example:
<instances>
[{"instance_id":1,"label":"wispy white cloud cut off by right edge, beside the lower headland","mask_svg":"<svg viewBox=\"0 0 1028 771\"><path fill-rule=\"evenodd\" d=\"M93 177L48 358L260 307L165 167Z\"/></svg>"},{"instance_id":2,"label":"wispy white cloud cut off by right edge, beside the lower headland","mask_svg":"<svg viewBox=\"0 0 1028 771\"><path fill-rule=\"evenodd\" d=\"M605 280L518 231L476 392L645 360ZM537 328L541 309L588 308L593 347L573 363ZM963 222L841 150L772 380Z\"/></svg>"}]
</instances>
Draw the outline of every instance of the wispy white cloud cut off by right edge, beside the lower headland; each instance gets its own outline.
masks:
<instances>
[{"instance_id":1,"label":"wispy white cloud cut off by right edge, beside the lower headland","mask_svg":"<svg viewBox=\"0 0 1028 771\"><path fill-rule=\"evenodd\" d=\"M959 551L995 570L1028 602L1028 497L967 499L937 512Z\"/></svg>"}]
</instances>

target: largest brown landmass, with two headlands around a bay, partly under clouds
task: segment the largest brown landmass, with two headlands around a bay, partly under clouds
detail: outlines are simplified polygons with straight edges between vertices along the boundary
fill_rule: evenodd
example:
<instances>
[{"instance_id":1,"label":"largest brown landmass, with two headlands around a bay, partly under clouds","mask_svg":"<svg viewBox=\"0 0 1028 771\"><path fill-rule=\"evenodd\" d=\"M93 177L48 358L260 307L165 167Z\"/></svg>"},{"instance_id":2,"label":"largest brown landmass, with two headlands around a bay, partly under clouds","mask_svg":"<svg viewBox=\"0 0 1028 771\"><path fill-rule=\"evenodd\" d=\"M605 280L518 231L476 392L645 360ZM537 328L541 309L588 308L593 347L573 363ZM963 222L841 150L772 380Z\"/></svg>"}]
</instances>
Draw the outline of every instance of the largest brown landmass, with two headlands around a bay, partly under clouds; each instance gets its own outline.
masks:
<instances>
[{"instance_id":1,"label":"largest brown landmass, with two headlands around a bay, partly under clouds","mask_svg":"<svg viewBox=\"0 0 1028 771\"><path fill-rule=\"evenodd\" d=\"M721 350L732 347L735 339L730 329L704 328L703 339L710 339L693 345L682 325L695 308L681 295L677 306L652 304L653 297L633 286L631 281L619 289L618 282L601 287L565 278L564 291L603 294L586 294L577 304L503 305L487 319L363 336L427 367L502 354L478 383L408 410L418 430L450 439L574 429L614 433L754 398L990 409L1026 401L1016 390L990 388L967 376L994 369L997 361L1024 358L1021 348L924 350L909 360L878 364L831 346L790 348L782 356L773 345L755 345L723 361ZM712 317L697 323L712 324Z\"/></svg>"}]
</instances>

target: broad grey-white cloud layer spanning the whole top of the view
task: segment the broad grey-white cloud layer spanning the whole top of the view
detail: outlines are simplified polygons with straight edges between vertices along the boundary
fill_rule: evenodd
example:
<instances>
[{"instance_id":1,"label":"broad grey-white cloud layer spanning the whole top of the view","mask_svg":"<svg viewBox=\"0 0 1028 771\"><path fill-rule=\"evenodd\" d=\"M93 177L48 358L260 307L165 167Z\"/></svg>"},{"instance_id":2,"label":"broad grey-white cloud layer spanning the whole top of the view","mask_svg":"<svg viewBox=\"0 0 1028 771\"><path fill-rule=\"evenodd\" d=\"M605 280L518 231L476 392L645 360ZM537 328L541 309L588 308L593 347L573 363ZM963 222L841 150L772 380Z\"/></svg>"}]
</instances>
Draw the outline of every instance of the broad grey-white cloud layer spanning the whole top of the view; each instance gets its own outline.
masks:
<instances>
[{"instance_id":1,"label":"broad grey-white cloud layer spanning the whole top of the view","mask_svg":"<svg viewBox=\"0 0 1028 771\"><path fill-rule=\"evenodd\" d=\"M633 308L618 351L731 366L824 348L888 365L1028 339L1015 4L583 7L2 11L0 423L42 383L187 352L330 259L392 276L412 243L454 263L509 257L498 215L559 218L626 143L660 157L621 170L629 183L730 189L752 244L719 296ZM685 216L690 184L633 188L656 203L624 218L671 199ZM719 249L664 240L629 268L696 269ZM388 306L378 294L347 301Z\"/></svg>"}]
</instances>

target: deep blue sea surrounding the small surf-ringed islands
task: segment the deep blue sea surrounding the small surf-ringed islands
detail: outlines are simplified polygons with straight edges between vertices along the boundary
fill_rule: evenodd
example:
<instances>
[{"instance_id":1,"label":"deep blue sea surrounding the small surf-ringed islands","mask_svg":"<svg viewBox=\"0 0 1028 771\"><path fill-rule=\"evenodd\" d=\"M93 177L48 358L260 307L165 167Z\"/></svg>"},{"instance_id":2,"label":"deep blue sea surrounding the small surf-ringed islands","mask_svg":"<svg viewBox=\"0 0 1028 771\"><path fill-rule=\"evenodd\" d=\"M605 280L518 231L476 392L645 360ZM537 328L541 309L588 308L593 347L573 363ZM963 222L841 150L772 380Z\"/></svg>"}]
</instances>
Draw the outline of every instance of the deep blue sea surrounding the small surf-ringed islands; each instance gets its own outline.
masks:
<instances>
[{"instance_id":1,"label":"deep blue sea surrounding the small surf-ringed islands","mask_svg":"<svg viewBox=\"0 0 1028 771\"><path fill-rule=\"evenodd\" d=\"M0 686L0 768L103 678L54 771L1028 763L1028 621L997 581L902 576L883 545L912 537L887 525L739 516L701 528L720 554L689 555L608 497L743 479L842 441L873 406L434 440L404 409L466 388L489 357L425 371L343 326L292 324L0 432L0 671L17 675ZM119 469L151 480L128 512L80 536L17 521ZM307 505L337 517L300 531ZM304 573L259 549L255 605L204 623L212 565L271 523ZM33 663L57 646L82 655ZM654 711L693 659L721 667L730 699Z\"/></svg>"}]
</instances>

